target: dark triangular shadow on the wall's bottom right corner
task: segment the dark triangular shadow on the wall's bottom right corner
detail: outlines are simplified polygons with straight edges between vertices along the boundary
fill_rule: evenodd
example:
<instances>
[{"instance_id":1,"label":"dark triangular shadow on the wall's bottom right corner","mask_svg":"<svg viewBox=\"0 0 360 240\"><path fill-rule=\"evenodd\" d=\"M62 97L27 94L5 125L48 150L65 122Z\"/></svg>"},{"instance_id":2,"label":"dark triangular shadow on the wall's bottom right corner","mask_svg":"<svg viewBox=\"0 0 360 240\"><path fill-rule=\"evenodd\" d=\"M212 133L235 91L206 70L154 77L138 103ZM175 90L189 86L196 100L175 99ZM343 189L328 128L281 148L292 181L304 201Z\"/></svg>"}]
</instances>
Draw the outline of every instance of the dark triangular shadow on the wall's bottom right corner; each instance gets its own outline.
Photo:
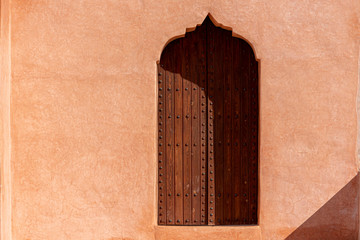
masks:
<instances>
[{"instance_id":1,"label":"dark triangular shadow on the wall's bottom right corner","mask_svg":"<svg viewBox=\"0 0 360 240\"><path fill-rule=\"evenodd\" d=\"M356 240L358 213L359 173L286 240Z\"/></svg>"}]
</instances>

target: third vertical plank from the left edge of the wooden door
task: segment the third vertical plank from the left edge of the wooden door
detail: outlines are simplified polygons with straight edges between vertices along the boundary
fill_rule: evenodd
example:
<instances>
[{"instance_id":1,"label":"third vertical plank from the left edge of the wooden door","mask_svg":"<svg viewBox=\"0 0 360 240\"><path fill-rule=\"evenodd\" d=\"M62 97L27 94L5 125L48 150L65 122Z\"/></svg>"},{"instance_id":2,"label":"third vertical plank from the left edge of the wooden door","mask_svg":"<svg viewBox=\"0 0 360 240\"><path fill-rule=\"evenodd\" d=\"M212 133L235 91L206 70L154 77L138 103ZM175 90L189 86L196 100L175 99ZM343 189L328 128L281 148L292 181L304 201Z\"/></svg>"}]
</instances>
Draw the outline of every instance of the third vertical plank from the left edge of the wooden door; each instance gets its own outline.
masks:
<instances>
[{"instance_id":1,"label":"third vertical plank from the left edge of the wooden door","mask_svg":"<svg viewBox=\"0 0 360 240\"><path fill-rule=\"evenodd\" d=\"M174 61L174 101L175 101L175 219L177 225L183 224L184 215L184 194L183 194L183 151L182 151L182 78L181 78L181 44L182 40L177 40L174 44L173 61Z\"/></svg>"}]
</instances>

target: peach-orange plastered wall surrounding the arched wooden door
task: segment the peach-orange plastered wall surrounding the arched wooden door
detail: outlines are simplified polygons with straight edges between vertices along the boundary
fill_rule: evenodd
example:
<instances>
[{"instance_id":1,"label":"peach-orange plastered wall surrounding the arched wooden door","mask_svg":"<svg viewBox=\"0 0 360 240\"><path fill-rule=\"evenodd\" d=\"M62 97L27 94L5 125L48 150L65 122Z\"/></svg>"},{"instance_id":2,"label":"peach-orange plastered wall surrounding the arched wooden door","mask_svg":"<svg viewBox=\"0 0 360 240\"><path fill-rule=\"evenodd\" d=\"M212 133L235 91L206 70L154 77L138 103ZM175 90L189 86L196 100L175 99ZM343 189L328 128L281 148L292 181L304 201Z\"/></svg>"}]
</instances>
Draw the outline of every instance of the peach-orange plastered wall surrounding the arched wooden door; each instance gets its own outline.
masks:
<instances>
[{"instance_id":1,"label":"peach-orange plastered wall surrounding the arched wooden door","mask_svg":"<svg viewBox=\"0 0 360 240\"><path fill-rule=\"evenodd\" d=\"M4 240L357 239L359 1L4 7ZM156 61L208 13L246 38L261 63L259 226L160 227Z\"/></svg>"}]
</instances>

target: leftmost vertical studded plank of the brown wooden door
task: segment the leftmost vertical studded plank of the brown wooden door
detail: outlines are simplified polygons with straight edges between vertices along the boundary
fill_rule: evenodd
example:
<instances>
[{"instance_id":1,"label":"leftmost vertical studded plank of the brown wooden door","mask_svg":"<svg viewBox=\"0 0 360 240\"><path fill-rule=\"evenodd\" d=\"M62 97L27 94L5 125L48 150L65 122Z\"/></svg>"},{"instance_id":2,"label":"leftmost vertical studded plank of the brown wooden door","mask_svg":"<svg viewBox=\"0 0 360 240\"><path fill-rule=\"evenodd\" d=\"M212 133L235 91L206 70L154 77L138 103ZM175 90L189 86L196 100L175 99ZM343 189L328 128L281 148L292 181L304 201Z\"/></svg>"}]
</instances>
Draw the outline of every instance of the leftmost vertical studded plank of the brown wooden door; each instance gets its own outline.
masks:
<instances>
[{"instance_id":1,"label":"leftmost vertical studded plank of the brown wooden door","mask_svg":"<svg viewBox=\"0 0 360 240\"><path fill-rule=\"evenodd\" d=\"M166 224L166 164L165 164L165 71L158 64L158 224Z\"/></svg>"}]
</instances>

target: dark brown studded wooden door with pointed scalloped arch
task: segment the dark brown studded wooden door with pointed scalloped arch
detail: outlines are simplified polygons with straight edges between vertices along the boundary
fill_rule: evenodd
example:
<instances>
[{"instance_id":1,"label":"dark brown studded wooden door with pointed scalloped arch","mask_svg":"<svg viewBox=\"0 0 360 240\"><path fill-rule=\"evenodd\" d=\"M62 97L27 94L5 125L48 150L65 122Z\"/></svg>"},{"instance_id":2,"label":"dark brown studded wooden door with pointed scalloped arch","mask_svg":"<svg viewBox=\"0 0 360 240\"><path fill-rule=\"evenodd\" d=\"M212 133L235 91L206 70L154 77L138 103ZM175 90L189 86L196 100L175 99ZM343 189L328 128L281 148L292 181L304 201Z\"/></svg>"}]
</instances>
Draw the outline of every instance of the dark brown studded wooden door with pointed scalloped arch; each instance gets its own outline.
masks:
<instances>
[{"instance_id":1,"label":"dark brown studded wooden door with pointed scalloped arch","mask_svg":"<svg viewBox=\"0 0 360 240\"><path fill-rule=\"evenodd\" d=\"M258 63L209 17L158 66L158 223L257 224Z\"/></svg>"}]
</instances>

